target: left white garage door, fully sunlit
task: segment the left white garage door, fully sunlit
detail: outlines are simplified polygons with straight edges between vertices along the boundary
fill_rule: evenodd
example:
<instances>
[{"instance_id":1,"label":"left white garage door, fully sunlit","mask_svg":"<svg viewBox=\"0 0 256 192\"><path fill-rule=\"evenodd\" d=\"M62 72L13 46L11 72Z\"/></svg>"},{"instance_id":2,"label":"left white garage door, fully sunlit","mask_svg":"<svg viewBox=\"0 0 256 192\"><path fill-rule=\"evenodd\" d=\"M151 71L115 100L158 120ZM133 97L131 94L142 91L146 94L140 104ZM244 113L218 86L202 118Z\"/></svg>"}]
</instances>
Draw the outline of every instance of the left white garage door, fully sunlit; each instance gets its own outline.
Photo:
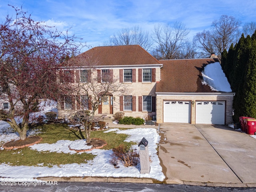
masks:
<instances>
[{"instance_id":1,"label":"left white garage door, fully sunlit","mask_svg":"<svg viewBox=\"0 0 256 192\"><path fill-rule=\"evenodd\" d=\"M190 123L190 118L190 102L164 101L164 122Z\"/></svg>"}]
</instances>

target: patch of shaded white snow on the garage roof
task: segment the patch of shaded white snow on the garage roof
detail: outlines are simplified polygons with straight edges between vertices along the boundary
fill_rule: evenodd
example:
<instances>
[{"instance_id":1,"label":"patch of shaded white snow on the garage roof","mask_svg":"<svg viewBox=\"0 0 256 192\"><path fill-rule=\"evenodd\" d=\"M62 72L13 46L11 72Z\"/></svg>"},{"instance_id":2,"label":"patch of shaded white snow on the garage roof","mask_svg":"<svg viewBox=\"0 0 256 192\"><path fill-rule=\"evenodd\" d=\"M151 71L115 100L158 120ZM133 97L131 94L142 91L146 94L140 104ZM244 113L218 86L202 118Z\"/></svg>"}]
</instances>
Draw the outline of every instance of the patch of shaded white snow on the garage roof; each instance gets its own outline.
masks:
<instances>
[{"instance_id":1,"label":"patch of shaded white snow on the garage roof","mask_svg":"<svg viewBox=\"0 0 256 192\"><path fill-rule=\"evenodd\" d=\"M202 71L202 84L207 84L214 91L232 92L228 79L226 78L219 62L210 63Z\"/></svg>"}]
</instances>

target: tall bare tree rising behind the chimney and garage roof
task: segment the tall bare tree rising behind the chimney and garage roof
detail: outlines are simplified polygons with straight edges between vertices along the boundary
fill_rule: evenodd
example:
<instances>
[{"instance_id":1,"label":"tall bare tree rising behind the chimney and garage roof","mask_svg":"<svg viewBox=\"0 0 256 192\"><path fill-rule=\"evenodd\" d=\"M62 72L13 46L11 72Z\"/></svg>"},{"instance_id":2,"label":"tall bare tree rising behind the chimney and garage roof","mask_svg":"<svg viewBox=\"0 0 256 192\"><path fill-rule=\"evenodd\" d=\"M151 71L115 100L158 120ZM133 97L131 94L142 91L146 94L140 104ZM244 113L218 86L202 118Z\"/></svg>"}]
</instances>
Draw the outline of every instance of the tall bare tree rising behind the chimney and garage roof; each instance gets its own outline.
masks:
<instances>
[{"instance_id":1,"label":"tall bare tree rising behind the chimney and garage roof","mask_svg":"<svg viewBox=\"0 0 256 192\"><path fill-rule=\"evenodd\" d=\"M210 31L197 33L195 39L202 54L210 55L216 52L220 56L224 49L228 49L232 43L238 41L240 24L241 22L233 16L222 15L212 22Z\"/></svg>"}]
</instances>

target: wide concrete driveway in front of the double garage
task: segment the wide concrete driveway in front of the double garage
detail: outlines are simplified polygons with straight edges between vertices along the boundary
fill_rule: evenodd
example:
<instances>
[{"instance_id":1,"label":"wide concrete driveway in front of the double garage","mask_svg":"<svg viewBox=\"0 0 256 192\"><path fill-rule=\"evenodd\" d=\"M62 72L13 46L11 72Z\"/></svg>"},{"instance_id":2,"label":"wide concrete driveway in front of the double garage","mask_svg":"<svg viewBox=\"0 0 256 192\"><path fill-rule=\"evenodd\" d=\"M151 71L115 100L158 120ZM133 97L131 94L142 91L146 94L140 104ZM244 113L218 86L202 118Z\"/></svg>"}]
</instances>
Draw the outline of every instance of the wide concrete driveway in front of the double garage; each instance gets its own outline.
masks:
<instances>
[{"instance_id":1,"label":"wide concrete driveway in front of the double garage","mask_svg":"<svg viewBox=\"0 0 256 192\"><path fill-rule=\"evenodd\" d=\"M166 183L256 186L256 139L228 126L160 125ZM234 186L234 185L233 185Z\"/></svg>"}]
</instances>

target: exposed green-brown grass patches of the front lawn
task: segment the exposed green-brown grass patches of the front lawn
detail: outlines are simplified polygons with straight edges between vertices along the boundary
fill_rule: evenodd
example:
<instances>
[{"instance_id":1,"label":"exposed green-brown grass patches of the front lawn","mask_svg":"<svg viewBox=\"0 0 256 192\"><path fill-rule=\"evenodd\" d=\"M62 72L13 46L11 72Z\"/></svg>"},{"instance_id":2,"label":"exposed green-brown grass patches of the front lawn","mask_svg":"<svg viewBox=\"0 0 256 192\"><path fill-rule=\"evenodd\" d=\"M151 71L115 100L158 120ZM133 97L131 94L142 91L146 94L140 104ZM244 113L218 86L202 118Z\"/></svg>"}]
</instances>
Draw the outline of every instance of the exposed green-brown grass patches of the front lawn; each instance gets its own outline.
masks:
<instances>
[{"instance_id":1,"label":"exposed green-brown grass patches of the front lawn","mask_svg":"<svg viewBox=\"0 0 256 192\"><path fill-rule=\"evenodd\" d=\"M40 143L53 144L58 140L78 140L85 137L84 132L79 132L68 128L67 124L49 123L40 124L32 127L31 129L40 129L43 140ZM105 140L108 144L102 149L110 150L114 147L124 146L130 147L132 142L124 142L128 137L126 134L116 134L115 132L104 133L104 131L92 131L91 138L100 138ZM16 150L0 150L0 163L8 163L12 166L48 166L72 163L86 163L92 160L94 155L88 153L81 154L66 154L57 152L38 152L29 147L16 149ZM40 165L38 165L40 164Z\"/></svg>"}]
</instances>

